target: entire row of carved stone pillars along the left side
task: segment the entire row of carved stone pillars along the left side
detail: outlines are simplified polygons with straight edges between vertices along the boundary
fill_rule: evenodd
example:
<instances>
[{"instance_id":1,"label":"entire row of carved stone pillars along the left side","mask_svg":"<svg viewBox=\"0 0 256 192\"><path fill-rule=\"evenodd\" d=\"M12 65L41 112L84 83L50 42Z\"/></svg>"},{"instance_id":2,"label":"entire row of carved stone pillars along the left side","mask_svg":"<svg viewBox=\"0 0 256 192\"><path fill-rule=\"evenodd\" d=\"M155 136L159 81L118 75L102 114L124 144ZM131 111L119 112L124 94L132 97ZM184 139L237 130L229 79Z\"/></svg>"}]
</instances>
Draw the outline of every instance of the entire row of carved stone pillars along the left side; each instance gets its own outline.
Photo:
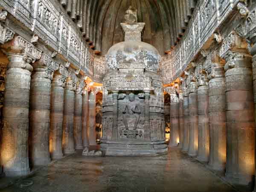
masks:
<instances>
[{"instance_id":1,"label":"entire row of carved stone pillars along the left side","mask_svg":"<svg viewBox=\"0 0 256 192\"><path fill-rule=\"evenodd\" d=\"M10 44L21 40L15 38ZM96 90L89 92L80 86L83 79L79 86L74 84L75 73L68 74L47 55L33 63L36 59L31 55L13 52L6 53L9 64L0 156L5 175L28 175L29 165L44 166L51 158L96 145Z\"/></svg>"}]
</instances>

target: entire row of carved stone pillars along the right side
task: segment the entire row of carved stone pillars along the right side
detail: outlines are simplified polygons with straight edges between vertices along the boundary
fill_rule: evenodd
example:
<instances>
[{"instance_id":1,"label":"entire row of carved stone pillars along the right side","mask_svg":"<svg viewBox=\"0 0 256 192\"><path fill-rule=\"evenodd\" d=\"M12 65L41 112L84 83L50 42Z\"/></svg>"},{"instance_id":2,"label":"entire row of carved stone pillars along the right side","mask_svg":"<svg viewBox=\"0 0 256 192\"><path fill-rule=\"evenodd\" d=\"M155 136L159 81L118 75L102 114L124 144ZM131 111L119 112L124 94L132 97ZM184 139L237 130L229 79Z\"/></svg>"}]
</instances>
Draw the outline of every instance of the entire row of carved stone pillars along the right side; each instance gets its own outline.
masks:
<instances>
[{"instance_id":1,"label":"entire row of carved stone pillars along the right side","mask_svg":"<svg viewBox=\"0 0 256 192\"><path fill-rule=\"evenodd\" d=\"M231 183L248 185L255 175L251 55L231 50L223 63L209 54L205 64L191 67L180 79L181 89L169 92L169 146L179 141L184 153L225 171Z\"/></svg>"}]
</instances>

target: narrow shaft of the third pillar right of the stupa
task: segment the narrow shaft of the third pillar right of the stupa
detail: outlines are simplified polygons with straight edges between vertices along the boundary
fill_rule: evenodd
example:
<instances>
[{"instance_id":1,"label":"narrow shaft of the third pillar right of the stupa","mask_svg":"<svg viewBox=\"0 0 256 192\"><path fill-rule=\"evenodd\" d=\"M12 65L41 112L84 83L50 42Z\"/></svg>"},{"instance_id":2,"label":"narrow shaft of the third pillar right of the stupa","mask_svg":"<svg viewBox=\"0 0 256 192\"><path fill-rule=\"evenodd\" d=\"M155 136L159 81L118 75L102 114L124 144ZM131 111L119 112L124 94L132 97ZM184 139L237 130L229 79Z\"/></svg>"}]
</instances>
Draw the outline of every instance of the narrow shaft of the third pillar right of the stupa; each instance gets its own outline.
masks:
<instances>
[{"instance_id":1,"label":"narrow shaft of the third pillar right of the stupa","mask_svg":"<svg viewBox=\"0 0 256 192\"><path fill-rule=\"evenodd\" d=\"M184 143L182 147L183 152L189 151L189 97L183 97L183 111L184 111Z\"/></svg>"}]
</instances>

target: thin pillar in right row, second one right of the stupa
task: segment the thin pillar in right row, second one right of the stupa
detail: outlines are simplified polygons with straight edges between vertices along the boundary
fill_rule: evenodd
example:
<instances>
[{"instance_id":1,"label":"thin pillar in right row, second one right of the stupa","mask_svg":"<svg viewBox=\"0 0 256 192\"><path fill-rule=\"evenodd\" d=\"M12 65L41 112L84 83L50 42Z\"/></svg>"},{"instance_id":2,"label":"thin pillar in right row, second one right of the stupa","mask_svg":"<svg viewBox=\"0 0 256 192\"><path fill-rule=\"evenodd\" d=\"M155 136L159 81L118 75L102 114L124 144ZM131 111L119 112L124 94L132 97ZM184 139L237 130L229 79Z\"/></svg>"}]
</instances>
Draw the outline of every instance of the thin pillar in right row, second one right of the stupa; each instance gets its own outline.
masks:
<instances>
[{"instance_id":1,"label":"thin pillar in right row, second one right of the stupa","mask_svg":"<svg viewBox=\"0 0 256 192\"><path fill-rule=\"evenodd\" d=\"M180 126L180 144L179 147L183 148L184 145L184 108L183 108L183 92L179 91L179 126Z\"/></svg>"}]
</instances>

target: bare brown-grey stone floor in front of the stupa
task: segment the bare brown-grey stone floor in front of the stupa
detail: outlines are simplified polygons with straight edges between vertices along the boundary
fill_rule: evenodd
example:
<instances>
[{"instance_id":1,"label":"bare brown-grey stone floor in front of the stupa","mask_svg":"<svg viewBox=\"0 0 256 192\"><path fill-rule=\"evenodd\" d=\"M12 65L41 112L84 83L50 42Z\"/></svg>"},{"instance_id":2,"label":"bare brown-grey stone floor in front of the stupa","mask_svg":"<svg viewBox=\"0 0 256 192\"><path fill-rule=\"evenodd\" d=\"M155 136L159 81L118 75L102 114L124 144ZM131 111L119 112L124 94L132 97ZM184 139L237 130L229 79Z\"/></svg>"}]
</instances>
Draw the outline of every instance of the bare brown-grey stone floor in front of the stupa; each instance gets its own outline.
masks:
<instances>
[{"instance_id":1,"label":"bare brown-grey stone floor in front of the stupa","mask_svg":"<svg viewBox=\"0 0 256 192\"><path fill-rule=\"evenodd\" d=\"M83 157L78 151L0 192L236 192L236 189L178 148L169 148L169 153L162 157Z\"/></svg>"}]
</instances>

